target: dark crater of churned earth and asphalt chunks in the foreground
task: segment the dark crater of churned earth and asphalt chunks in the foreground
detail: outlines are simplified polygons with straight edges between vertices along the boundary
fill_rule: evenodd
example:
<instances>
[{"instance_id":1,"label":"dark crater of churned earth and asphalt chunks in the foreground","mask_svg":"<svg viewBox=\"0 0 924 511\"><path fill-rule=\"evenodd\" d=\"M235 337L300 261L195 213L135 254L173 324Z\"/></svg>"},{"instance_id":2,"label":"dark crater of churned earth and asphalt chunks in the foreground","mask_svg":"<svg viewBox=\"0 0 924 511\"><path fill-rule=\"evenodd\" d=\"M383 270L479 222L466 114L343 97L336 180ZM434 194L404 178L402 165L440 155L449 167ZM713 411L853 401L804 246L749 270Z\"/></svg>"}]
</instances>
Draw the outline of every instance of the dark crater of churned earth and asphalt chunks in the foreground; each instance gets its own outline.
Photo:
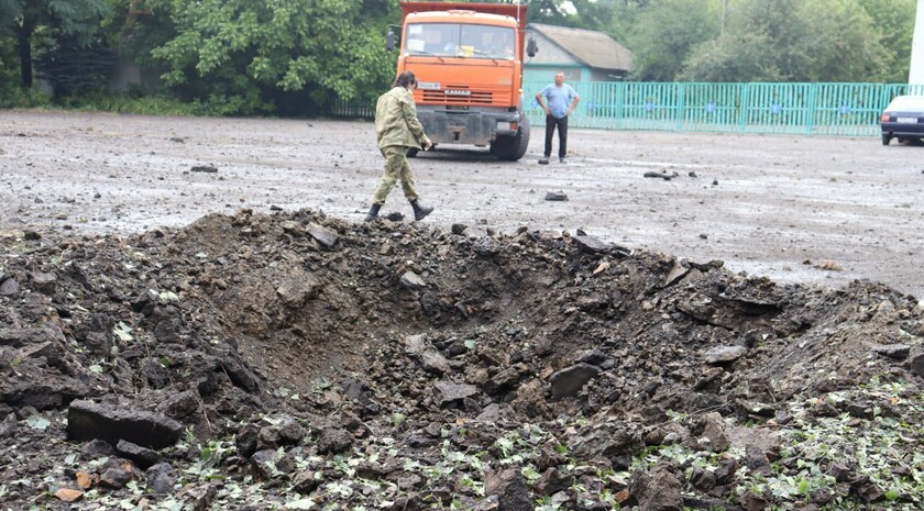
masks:
<instances>
[{"instance_id":1,"label":"dark crater of churned earth and asphalt chunks in the foreground","mask_svg":"<svg viewBox=\"0 0 924 511\"><path fill-rule=\"evenodd\" d=\"M2 240L2 509L922 509L924 311L300 211Z\"/></svg>"}]
</instances>

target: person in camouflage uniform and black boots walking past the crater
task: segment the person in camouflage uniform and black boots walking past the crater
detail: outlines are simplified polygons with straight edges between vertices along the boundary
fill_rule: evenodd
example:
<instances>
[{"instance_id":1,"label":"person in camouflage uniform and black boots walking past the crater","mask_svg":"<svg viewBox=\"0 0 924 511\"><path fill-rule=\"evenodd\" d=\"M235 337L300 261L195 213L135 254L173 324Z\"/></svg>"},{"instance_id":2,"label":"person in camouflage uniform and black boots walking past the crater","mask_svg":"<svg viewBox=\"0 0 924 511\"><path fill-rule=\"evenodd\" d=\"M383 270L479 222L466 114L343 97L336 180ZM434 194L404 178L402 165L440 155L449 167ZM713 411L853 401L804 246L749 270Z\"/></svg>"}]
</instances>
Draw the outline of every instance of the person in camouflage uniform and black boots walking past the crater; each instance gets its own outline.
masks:
<instances>
[{"instance_id":1,"label":"person in camouflage uniform and black boots walking past the crater","mask_svg":"<svg viewBox=\"0 0 924 511\"><path fill-rule=\"evenodd\" d=\"M414 220L424 220L433 208L421 205L414 188L414 175L407 163L407 149L429 149L432 143L424 133L424 126L417 120L417 108L411 89L417 87L413 71L404 71L395 79L392 90L378 97L375 104L375 134L378 149L385 156L385 173L378 181L378 188L372 197L372 208L366 214L366 222L378 218L378 210L395 187L402 181L405 197L414 208Z\"/></svg>"}]
</instances>

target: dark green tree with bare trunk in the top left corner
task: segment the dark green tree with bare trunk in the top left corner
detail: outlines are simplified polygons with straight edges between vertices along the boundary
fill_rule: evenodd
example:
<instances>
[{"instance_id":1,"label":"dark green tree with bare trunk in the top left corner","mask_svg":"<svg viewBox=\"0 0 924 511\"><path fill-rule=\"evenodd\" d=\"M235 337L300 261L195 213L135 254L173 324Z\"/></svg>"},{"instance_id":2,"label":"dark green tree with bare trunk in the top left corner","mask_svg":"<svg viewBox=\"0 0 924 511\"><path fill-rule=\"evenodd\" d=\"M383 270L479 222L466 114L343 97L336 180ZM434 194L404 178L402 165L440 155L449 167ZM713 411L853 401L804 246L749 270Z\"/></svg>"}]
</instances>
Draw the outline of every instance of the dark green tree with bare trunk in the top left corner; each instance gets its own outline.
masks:
<instances>
[{"instance_id":1,"label":"dark green tree with bare trunk in the top left corner","mask_svg":"<svg viewBox=\"0 0 924 511\"><path fill-rule=\"evenodd\" d=\"M32 87L33 44L37 31L90 45L112 12L108 0L0 0L2 30L13 33L23 88Z\"/></svg>"}]
</instances>

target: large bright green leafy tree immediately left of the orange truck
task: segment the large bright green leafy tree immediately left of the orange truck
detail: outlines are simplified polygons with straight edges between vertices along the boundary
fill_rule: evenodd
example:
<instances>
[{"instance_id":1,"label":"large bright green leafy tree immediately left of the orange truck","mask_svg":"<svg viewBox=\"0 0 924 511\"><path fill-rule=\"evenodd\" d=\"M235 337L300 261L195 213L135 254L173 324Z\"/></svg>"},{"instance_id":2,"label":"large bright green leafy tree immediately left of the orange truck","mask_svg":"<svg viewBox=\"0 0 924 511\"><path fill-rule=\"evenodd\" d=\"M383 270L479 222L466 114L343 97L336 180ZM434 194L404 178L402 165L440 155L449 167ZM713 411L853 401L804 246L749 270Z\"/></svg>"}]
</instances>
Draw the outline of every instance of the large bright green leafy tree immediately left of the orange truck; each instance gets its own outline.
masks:
<instances>
[{"instance_id":1,"label":"large bright green leafy tree immediately left of the orange truck","mask_svg":"<svg viewBox=\"0 0 924 511\"><path fill-rule=\"evenodd\" d=\"M395 73L384 29L399 15L388 0L146 4L176 30L152 51L169 68L165 82L216 113L306 113L333 97L371 102Z\"/></svg>"}]
</instances>

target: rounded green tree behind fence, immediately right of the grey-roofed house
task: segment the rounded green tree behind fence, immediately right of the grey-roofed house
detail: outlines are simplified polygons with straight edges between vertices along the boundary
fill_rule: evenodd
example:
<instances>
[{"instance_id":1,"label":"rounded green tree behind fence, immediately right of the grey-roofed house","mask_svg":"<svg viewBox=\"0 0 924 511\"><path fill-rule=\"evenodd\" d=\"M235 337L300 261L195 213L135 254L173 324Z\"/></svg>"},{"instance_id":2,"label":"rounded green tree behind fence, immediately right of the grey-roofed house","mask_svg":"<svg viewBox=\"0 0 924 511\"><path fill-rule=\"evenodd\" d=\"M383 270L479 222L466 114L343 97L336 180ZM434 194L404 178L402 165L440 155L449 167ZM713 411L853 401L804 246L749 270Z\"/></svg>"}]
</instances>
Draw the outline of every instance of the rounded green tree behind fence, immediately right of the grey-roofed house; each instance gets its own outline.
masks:
<instances>
[{"instance_id":1,"label":"rounded green tree behind fence, immediately right of the grey-roofed house","mask_svg":"<svg viewBox=\"0 0 924 511\"><path fill-rule=\"evenodd\" d=\"M639 9L627 34L632 51L632 77L671 81L696 45L718 35L721 11L715 0L653 0ZM683 15L679 15L683 13Z\"/></svg>"}]
</instances>

